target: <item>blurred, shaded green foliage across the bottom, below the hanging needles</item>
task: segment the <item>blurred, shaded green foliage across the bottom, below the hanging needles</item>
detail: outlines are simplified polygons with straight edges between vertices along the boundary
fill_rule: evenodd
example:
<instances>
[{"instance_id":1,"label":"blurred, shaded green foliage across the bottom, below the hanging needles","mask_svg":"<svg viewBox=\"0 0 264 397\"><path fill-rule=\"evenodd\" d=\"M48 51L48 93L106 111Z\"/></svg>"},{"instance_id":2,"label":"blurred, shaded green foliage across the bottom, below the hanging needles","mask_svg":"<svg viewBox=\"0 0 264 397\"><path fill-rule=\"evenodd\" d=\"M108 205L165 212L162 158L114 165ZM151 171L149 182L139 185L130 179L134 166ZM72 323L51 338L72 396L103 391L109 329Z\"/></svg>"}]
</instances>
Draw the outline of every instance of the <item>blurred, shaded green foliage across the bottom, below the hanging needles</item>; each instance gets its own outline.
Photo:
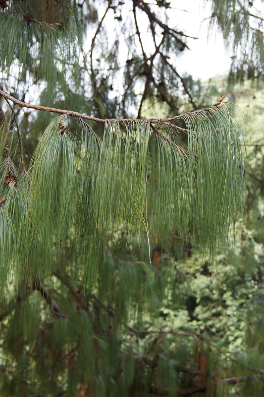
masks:
<instances>
[{"instance_id":1,"label":"blurred, shaded green foliage across the bottom, below the hanging needles","mask_svg":"<svg viewBox=\"0 0 264 397\"><path fill-rule=\"evenodd\" d=\"M54 272L48 292L56 295L61 313L21 285L8 320L0 324L7 327L1 365L8 368L1 394L11 388L20 395L24 387L26 395L78 396L82 390L89 396L151 396L156 390L172 396L175 390L187 393L204 376L205 395L246 397L251 391L261 397L263 337L261 324L259 334L255 328L254 271L245 276L242 266L226 263L232 255L240 261L241 253L218 256L213 278L198 254L186 263L164 255L155 269L112 253L89 294L65 273L68 258Z\"/></svg>"}]
</instances>

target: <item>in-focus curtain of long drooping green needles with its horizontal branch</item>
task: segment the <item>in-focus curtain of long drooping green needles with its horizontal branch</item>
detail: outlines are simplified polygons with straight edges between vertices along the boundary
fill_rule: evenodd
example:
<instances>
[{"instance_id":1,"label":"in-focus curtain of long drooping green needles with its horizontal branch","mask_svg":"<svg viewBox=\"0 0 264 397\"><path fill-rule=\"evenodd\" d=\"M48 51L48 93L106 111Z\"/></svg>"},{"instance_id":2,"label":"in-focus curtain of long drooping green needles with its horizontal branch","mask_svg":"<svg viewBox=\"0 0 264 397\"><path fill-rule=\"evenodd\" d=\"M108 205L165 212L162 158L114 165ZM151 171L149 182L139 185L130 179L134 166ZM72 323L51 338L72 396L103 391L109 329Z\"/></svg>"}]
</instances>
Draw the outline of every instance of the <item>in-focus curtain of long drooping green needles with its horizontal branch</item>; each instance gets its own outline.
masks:
<instances>
[{"instance_id":1,"label":"in-focus curtain of long drooping green needles with its horizontal branch","mask_svg":"<svg viewBox=\"0 0 264 397\"><path fill-rule=\"evenodd\" d=\"M6 199L1 268L18 253L19 277L34 282L50 274L59 250L68 247L75 277L90 288L118 226L128 236L146 233L147 245L150 235L157 238L166 227L192 236L211 255L228 241L230 225L242 211L245 178L240 134L221 101L164 120L95 119L105 123L102 140L83 120L94 118L42 110L62 115L43 133L26 174L15 167L21 139L11 159L11 140L1 134L1 199ZM69 116L77 118L74 135ZM6 119L8 136L14 126Z\"/></svg>"}]
</instances>

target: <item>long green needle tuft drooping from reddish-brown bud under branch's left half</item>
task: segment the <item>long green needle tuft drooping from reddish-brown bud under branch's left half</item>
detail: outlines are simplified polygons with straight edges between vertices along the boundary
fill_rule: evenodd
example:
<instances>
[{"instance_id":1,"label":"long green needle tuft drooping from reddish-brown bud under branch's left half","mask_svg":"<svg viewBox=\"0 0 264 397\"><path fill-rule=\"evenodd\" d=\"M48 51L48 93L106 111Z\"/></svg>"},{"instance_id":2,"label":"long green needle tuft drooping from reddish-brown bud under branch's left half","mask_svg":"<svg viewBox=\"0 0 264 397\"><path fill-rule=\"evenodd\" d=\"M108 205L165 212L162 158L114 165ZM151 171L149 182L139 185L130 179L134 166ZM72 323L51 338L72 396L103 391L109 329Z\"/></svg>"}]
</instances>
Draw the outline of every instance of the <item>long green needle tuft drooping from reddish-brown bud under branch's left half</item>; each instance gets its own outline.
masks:
<instances>
[{"instance_id":1,"label":"long green needle tuft drooping from reddish-brown bud under branch's left half","mask_svg":"<svg viewBox=\"0 0 264 397\"><path fill-rule=\"evenodd\" d=\"M62 123L60 118L49 125L30 164L29 242L33 241L33 250L43 247L46 255L53 244L69 236L71 228L74 141Z\"/></svg>"}]
</instances>

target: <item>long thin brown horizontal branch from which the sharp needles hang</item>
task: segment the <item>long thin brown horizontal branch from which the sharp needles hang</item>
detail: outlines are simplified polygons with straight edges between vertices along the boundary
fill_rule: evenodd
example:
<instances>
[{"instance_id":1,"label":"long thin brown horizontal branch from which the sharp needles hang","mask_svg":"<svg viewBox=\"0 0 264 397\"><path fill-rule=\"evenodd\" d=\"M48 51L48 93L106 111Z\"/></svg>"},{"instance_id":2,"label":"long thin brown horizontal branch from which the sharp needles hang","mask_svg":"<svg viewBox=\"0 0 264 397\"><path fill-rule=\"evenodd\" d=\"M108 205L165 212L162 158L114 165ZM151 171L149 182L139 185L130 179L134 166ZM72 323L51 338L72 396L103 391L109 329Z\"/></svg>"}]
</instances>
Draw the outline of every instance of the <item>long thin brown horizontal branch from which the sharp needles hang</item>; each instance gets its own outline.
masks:
<instances>
[{"instance_id":1,"label":"long thin brown horizontal branch from which the sharp needles hang","mask_svg":"<svg viewBox=\"0 0 264 397\"><path fill-rule=\"evenodd\" d=\"M28 109L35 109L35 110L43 110L45 112L54 112L54 113L59 113L61 115L67 115L67 116L73 116L73 117L78 117L81 119L86 119L86 120L92 120L95 122L99 122L99 123L109 123L110 121L115 121L117 123L121 123L121 122L130 122L130 121L140 121L140 122L145 122L145 123L154 123L154 124L158 124L159 126L161 126L162 123L167 124L170 123L172 120L179 120L182 119L183 116L188 116L190 115L194 115L195 113L199 114L200 112L208 112L209 109L211 108L219 108L221 106L221 102L224 98L224 96L222 96L222 98L219 99L218 102L216 102L214 105L211 106L211 108L207 108L207 109L201 109L201 110L197 110L194 111L192 113L185 113L179 116L171 116L168 117L166 119L99 119L98 117L93 117L93 116L87 116L84 115L82 113L78 113L78 112L74 112L72 110L65 110L65 109L56 109L56 108L50 108L50 107L46 107L46 106L41 106L41 105L30 105L29 103L25 103L22 101L19 101L18 99L12 97L11 95L7 94L6 92L2 91L0 89L0 95L5 98L8 99L10 101L12 101L13 103L23 107L23 108L28 108Z\"/></svg>"}]
</instances>

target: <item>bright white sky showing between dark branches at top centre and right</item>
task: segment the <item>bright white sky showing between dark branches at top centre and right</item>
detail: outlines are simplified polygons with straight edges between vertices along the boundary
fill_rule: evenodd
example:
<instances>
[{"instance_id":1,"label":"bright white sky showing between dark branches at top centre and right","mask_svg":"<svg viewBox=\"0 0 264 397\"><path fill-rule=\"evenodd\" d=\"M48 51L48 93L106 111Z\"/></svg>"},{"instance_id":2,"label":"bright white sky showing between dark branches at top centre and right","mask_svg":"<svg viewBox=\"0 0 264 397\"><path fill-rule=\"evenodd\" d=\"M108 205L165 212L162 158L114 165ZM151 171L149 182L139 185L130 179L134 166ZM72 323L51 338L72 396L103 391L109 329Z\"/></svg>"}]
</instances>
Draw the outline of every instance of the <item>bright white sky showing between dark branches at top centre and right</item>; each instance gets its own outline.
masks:
<instances>
[{"instance_id":1,"label":"bright white sky showing between dark branches at top centre and right","mask_svg":"<svg viewBox=\"0 0 264 397\"><path fill-rule=\"evenodd\" d=\"M154 0L145 0L148 3L155 4ZM125 1L127 6L126 11L132 11L132 2ZM124 7L123 6L123 7ZM211 14L211 4L205 0L170 0L171 9L168 10L169 25L176 26L180 31L193 37L198 37L198 40L188 39L187 43L191 51L185 50L178 58L176 64L177 71L183 75L185 72L191 74L194 78L199 77L206 80L216 74L225 73L229 70L230 56L224 49L223 39L221 33L214 29L214 37L208 40L208 21L204 20ZM123 8L122 8L123 9ZM158 9L152 7L153 10ZM103 16L106 10L106 3L102 2L99 6L99 19ZM125 15L125 14L124 14ZM108 26L112 24L112 16L107 15L105 23ZM139 29L142 33L143 45L145 48L148 44L153 46L152 37L150 33L144 32L144 25L146 26L147 16L145 13L137 13L139 22ZM203 21L204 20L204 21ZM113 43L116 31L107 29L107 38L109 43ZM93 37L93 32L88 32L87 50L89 51L90 43ZM138 38L135 37L138 41ZM139 45L139 43L138 43ZM119 54L121 64L125 64L126 53L125 48L122 54ZM124 59L122 59L122 57Z\"/></svg>"}]
</instances>

